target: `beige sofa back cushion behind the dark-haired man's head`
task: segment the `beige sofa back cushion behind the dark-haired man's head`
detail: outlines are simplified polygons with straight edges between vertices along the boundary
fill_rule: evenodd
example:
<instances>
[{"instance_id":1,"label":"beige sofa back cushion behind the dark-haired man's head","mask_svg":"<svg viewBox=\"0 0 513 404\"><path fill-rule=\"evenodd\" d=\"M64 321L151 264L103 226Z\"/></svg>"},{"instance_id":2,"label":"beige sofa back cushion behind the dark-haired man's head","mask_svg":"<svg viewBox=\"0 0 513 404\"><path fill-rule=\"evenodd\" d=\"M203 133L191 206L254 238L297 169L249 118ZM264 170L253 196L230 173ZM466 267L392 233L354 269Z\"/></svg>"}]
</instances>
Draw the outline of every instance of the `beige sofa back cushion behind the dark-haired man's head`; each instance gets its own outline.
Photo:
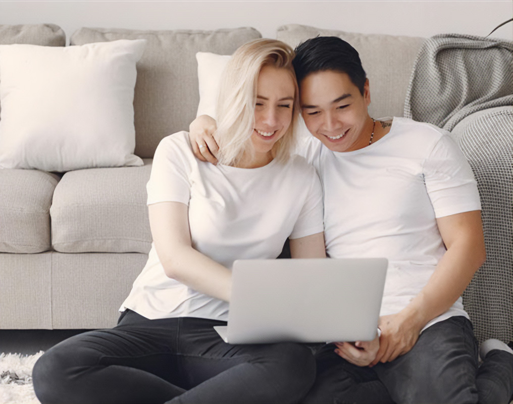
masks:
<instances>
[{"instance_id":1,"label":"beige sofa back cushion behind the dark-haired man's head","mask_svg":"<svg viewBox=\"0 0 513 404\"><path fill-rule=\"evenodd\" d=\"M424 38L359 34L289 24L278 28L277 39L295 48L318 35L338 36L360 54L369 79L371 117L403 116L411 70Z\"/></svg>"}]
</instances>

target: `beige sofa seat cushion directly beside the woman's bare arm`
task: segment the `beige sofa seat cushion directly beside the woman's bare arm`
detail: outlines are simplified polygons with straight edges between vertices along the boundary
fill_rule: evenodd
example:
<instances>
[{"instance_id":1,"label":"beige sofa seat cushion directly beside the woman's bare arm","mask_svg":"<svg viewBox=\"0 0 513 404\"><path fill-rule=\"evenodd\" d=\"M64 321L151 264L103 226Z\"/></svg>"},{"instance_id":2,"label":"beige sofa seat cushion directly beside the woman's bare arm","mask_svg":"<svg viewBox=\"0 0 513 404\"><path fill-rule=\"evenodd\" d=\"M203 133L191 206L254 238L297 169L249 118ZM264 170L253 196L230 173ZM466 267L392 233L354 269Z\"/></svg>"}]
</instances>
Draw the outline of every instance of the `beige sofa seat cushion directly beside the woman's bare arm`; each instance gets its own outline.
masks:
<instances>
[{"instance_id":1,"label":"beige sofa seat cushion directly beside the woman's bare arm","mask_svg":"<svg viewBox=\"0 0 513 404\"><path fill-rule=\"evenodd\" d=\"M146 183L140 167L68 171L50 208L52 246L61 253L145 253L151 248Z\"/></svg>"}]
</instances>

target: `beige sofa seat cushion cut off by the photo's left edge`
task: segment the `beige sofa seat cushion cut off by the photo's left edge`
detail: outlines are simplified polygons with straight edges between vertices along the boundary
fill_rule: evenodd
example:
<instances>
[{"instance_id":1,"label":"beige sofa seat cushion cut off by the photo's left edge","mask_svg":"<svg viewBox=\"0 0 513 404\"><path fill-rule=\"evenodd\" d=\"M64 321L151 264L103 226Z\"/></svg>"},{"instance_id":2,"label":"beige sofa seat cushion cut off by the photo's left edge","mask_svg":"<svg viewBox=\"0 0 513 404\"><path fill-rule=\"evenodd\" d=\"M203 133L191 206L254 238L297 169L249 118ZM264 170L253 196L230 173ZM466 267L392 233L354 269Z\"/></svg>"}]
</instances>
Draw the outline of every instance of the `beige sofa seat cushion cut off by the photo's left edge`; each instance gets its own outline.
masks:
<instances>
[{"instance_id":1,"label":"beige sofa seat cushion cut off by the photo's left edge","mask_svg":"<svg viewBox=\"0 0 513 404\"><path fill-rule=\"evenodd\" d=\"M0 252L50 249L49 209L59 178L45 171L0 169Z\"/></svg>"}]
</instances>

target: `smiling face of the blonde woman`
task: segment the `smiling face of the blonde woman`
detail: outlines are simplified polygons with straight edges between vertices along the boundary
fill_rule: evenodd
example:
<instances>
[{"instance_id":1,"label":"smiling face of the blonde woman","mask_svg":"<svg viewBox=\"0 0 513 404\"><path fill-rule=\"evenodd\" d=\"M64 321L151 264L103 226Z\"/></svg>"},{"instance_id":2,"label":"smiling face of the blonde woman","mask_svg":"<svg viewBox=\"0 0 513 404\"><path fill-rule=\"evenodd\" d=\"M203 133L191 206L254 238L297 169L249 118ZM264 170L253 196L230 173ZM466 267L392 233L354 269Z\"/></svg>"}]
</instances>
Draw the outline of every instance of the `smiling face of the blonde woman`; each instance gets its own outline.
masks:
<instances>
[{"instance_id":1,"label":"smiling face of the blonde woman","mask_svg":"<svg viewBox=\"0 0 513 404\"><path fill-rule=\"evenodd\" d=\"M292 121L294 81L285 68L264 66L257 84L255 124L251 143L257 158L270 157Z\"/></svg>"}]
</instances>

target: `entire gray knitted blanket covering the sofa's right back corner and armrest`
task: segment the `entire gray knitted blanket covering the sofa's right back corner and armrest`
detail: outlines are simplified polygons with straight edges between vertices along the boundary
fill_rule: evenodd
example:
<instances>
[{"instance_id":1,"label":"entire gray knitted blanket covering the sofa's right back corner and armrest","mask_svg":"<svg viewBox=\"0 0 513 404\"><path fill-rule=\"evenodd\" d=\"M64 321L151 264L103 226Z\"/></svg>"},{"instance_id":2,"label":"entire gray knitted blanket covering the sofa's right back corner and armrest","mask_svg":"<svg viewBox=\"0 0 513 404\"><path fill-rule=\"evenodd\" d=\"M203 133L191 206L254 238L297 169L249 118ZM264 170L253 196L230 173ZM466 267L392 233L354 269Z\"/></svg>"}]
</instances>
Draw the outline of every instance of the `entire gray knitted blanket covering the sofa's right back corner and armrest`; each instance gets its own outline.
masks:
<instances>
[{"instance_id":1,"label":"entire gray knitted blanket covering the sofa's right back corner and armrest","mask_svg":"<svg viewBox=\"0 0 513 404\"><path fill-rule=\"evenodd\" d=\"M463 294L478 340L513 339L513 43L437 35L421 47L404 116L451 131L481 196L486 262Z\"/></svg>"}]
</instances>

